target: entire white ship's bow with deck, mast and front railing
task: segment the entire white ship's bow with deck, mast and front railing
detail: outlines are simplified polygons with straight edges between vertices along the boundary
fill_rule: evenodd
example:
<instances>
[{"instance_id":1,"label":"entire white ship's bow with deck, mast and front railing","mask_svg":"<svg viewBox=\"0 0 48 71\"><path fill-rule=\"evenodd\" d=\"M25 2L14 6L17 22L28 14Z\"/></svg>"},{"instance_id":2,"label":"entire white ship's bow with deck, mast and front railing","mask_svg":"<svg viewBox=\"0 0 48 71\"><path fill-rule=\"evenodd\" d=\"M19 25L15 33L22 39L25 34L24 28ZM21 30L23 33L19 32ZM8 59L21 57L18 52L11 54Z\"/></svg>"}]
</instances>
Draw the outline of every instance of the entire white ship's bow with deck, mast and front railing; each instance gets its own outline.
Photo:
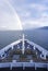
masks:
<instances>
[{"instance_id":1,"label":"entire white ship's bow with deck, mast and front railing","mask_svg":"<svg viewBox=\"0 0 48 71\"><path fill-rule=\"evenodd\" d=\"M19 39L0 50L0 68L35 67L48 69L48 50L29 42L24 34Z\"/></svg>"}]
</instances>

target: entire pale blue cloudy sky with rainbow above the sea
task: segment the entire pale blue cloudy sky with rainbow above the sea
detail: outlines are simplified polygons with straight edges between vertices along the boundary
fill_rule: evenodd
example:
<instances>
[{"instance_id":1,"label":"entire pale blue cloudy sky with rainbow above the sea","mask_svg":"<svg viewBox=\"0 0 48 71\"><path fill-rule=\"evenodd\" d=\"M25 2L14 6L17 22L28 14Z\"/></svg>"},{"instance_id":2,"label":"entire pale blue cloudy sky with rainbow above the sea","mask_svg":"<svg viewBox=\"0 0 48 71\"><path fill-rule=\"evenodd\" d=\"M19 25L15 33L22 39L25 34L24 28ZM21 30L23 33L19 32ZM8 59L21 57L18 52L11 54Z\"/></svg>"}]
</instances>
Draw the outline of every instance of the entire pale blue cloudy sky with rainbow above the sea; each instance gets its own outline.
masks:
<instances>
[{"instance_id":1,"label":"entire pale blue cloudy sky with rainbow above the sea","mask_svg":"<svg viewBox=\"0 0 48 71\"><path fill-rule=\"evenodd\" d=\"M0 29L48 26L48 0L0 0Z\"/></svg>"}]
</instances>

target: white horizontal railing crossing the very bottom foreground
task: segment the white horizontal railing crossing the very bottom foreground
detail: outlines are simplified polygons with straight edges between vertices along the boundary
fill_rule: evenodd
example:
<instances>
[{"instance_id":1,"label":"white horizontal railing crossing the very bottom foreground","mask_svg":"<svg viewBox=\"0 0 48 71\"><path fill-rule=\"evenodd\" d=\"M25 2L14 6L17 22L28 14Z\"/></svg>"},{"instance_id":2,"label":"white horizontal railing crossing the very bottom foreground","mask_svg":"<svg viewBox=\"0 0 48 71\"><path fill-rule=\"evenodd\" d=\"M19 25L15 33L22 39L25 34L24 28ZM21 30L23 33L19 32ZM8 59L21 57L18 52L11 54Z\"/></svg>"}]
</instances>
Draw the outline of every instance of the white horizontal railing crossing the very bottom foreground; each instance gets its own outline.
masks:
<instances>
[{"instance_id":1,"label":"white horizontal railing crossing the very bottom foreground","mask_svg":"<svg viewBox=\"0 0 48 71\"><path fill-rule=\"evenodd\" d=\"M41 63L41 62L3 62L0 63L0 68L16 68L16 67L23 67L25 69L26 67L35 68L45 68L48 70L48 63Z\"/></svg>"}]
</instances>

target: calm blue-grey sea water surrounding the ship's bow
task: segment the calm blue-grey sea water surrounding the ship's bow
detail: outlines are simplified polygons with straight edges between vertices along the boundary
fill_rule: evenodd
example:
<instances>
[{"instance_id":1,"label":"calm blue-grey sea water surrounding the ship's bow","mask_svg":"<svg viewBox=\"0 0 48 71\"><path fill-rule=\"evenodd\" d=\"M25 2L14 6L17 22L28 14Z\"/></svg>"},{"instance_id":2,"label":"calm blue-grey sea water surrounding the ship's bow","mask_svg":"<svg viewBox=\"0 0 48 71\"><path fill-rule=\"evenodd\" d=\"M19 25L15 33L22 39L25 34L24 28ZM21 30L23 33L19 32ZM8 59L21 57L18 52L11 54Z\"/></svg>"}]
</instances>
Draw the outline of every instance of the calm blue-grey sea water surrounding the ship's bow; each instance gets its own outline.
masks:
<instances>
[{"instance_id":1,"label":"calm blue-grey sea water surrounding the ship's bow","mask_svg":"<svg viewBox=\"0 0 48 71\"><path fill-rule=\"evenodd\" d=\"M48 29L0 31L0 49L22 38L23 33L25 34L25 38L33 40L48 50Z\"/></svg>"}]
</instances>

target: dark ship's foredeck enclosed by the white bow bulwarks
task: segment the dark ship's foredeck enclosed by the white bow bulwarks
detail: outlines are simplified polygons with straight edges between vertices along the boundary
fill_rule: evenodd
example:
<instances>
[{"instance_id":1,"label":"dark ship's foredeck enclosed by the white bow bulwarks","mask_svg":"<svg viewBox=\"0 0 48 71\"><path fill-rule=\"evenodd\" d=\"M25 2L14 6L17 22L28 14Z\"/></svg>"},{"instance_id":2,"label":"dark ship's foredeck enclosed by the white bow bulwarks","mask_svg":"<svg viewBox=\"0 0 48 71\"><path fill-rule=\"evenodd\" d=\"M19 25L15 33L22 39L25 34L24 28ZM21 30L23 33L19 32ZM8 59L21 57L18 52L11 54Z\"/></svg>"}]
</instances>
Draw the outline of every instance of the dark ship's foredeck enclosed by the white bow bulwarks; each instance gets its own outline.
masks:
<instances>
[{"instance_id":1,"label":"dark ship's foredeck enclosed by the white bow bulwarks","mask_svg":"<svg viewBox=\"0 0 48 71\"><path fill-rule=\"evenodd\" d=\"M16 62L48 62L48 58L46 60L41 59L39 57L40 51L38 51L38 49L34 50L33 46L28 43L25 43L24 55L22 54L22 42L19 44L19 46L20 47L17 47L17 45L14 45L13 49L10 48L8 51L4 51L7 54L7 57L0 59L0 62L12 62L12 60L15 60Z\"/></svg>"}]
</instances>

